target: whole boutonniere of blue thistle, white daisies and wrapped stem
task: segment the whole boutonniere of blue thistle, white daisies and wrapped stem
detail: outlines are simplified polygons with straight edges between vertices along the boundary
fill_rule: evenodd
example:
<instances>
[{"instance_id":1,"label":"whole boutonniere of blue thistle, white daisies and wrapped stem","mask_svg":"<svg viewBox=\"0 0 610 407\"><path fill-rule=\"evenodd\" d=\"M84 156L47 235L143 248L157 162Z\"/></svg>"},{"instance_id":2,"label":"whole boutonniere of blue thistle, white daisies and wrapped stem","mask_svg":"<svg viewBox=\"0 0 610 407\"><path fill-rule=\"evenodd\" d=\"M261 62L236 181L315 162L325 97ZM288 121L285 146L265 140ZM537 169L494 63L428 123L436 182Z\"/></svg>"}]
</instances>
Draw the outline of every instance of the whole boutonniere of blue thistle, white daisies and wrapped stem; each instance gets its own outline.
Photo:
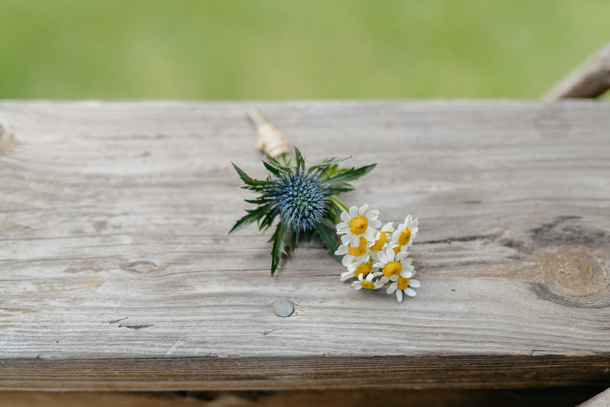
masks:
<instances>
[{"instance_id":1,"label":"whole boutonniere of blue thistle, white daisies and wrapped stem","mask_svg":"<svg viewBox=\"0 0 610 407\"><path fill-rule=\"evenodd\" d=\"M256 208L246 209L247 214L229 234L254 222L263 232L274 228L269 240L273 243L272 278L282 254L294 251L301 237L307 240L320 237L331 255L347 269L341 281L356 279L352 283L356 290L380 289L392 281L387 292L396 292L398 301L402 301L403 292L414 297L412 288L420 284L412 278L415 270L407 250L417 235L418 220L409 215L397 229L393 222L382 227L379 211L369 211L368 204L348 207L337 196L354 190L350 182L367 175L377 164L340 168L350 156L332 157L307 166L301 151L295 147L294 155L290 154L281 134L258 110L251 109L248 114L257 124L257 145L264 151L266 159L262 163L269 175L260 180L251 178L231 162L245 184L242 188L258 196L245 200L256 204Z\"/></svg>"}]
</instances>

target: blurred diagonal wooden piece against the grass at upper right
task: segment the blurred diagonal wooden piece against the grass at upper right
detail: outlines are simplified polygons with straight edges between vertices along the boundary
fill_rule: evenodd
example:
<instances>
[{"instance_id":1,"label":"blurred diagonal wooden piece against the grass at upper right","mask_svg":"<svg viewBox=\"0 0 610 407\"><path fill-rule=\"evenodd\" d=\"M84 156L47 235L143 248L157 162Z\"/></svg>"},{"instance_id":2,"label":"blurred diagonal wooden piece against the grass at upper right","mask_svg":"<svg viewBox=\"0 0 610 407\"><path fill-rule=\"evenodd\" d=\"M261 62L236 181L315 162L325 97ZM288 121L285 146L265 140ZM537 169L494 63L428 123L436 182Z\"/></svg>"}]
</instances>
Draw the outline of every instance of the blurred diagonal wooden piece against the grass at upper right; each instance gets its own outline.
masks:
<instances>
[{"instance_id":1,"label":"blurred diagonal wooden piece against the grass at upper right","mask_svg":"<svg viewBox=\"0 0 610 407\"><path fill-rule=\"evenodd\" d=\"M610 43L551 88L545 99L597 98L610 89Z\"/></svg>"}]
</instances>

